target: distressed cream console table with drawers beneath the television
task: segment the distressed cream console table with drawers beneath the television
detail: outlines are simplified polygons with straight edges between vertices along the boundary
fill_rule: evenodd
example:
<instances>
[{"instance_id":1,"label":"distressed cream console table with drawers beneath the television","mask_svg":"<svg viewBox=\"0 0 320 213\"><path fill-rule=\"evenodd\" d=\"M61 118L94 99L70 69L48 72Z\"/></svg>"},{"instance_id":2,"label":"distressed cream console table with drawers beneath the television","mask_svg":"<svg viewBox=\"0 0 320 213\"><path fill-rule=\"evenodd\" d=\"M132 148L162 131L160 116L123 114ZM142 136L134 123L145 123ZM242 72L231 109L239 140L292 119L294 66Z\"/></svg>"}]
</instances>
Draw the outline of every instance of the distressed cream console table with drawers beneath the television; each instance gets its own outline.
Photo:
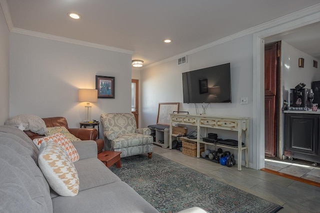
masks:
<instances>
[{"instance_id":1,"label":"distressed cream console table with drawers beneath the television","mask_svg":"<svg viewBox=\"0 0 320 213\"><path fill-rule=\"evenodd\" d=\"M188 139L197 143L196 157L200 157L200 144L204 144L204 149L207 145L213 145L200 139L200 129L205 128L205 135L207 135L207 128L224 129L230 131L237 131L238 146L231 147L222 144L216 144L217 147L224 147L228 149L236 149L238 171L241 171L242 151L245 151L245 167L249 167L249 118L247 117L228 117L228 116L211 116L211 115L188 115L188 114L170 114L170 136L177 136L172 134L172 124L184 124L197 127L197 138ZM244 146L242 146L242 132L245 134ZM172 149L172 137L169 137L169 149Z\"/></svg>"}]
</instances>

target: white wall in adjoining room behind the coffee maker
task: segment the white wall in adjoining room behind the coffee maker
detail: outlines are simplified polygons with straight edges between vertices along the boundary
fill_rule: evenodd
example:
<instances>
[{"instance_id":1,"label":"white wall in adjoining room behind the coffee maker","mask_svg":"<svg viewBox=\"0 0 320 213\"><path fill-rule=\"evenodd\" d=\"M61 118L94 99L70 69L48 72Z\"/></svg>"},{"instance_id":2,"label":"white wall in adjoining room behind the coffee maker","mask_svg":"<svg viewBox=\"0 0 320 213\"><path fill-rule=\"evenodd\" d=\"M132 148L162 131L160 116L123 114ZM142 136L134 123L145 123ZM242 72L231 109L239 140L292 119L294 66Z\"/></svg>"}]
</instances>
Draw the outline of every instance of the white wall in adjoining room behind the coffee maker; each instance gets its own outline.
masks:
<instances>
[{"instance_id":1,"label":"white wall in adjoining room behind the coffee maker","mask_svg":"<svg viewBox=\"0 0 320 213\"><path fill-rule=\"evenodd\" d=\"M298 67L298 59L304 58L304 67ZM304 88L311 88L312 81L320 80L320 70L313 67L313 60L317 59L311 57L291 46L285 41L281 41L281 89L280 89L280 107L282 107L283 100L289 101L289 91L300 82L305 83ZM280 130L279 130L279 153L280 157L284 150L284 114L280 116Z\"/></svg>"}]
</instances>

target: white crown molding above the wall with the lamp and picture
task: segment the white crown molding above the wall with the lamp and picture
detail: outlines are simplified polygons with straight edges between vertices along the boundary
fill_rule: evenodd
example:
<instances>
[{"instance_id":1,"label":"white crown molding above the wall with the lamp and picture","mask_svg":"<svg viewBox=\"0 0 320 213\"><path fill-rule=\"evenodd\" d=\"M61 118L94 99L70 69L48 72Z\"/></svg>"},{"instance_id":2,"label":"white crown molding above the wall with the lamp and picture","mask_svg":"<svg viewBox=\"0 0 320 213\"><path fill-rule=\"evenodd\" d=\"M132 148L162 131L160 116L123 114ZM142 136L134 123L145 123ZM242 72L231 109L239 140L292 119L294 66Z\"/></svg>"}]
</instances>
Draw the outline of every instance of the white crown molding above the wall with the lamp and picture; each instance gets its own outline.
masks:
<instances>
[{"instance_id":1,"label":"white crown molding above the wall with the lamp and picture","mask_svg":"<svg viewBox=\"0 0 320 213\"><path fill-rule=\"evenodd\" d=\"M126 53L126 54L133 54L132 50L121 49L121 48L116 48L116 47L112 47L112 46L105 46L102 44L91 43L91 42L66 38L66 37L57 36L57 35L51 35L51 34L46 34L46 33L42 33L42 32L35 32L35 31L16 28L16 27L13 27L11 29L11 32L19 33L19 34L23 34L23 35L30 35L30 36L39 37L39 38L50 39L50 40L56 40L56 41L61 41L61 42L66 42L66 43L78 44L78 45L88 46L88 47L93 47L93 48L105 49L105 50L110 50L110 51L115 51L115 52L121 52L121 53Z\"/></svg>"}]
</instances>

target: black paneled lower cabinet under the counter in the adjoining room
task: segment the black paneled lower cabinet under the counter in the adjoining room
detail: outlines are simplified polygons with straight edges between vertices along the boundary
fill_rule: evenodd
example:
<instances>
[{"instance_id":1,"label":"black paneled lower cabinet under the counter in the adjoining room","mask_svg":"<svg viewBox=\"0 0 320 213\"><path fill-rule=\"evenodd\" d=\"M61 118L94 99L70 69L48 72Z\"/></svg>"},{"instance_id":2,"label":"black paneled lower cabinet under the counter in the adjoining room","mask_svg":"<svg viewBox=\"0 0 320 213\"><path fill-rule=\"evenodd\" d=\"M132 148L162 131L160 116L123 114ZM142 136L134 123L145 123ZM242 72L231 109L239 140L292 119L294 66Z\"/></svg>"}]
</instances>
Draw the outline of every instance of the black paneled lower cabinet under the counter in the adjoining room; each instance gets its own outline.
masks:
<instances>
[{"instance_id":1,"label":"black paneled lower cabinet under the counter in the adjoining room","mask_svg":"<svg viewBox=\"0 0 320 213\"><path fill-rule=\"evenodd\" d=\"M320 114L285 113L284 155L320 163Z\"/></svg>"}]
</instances>

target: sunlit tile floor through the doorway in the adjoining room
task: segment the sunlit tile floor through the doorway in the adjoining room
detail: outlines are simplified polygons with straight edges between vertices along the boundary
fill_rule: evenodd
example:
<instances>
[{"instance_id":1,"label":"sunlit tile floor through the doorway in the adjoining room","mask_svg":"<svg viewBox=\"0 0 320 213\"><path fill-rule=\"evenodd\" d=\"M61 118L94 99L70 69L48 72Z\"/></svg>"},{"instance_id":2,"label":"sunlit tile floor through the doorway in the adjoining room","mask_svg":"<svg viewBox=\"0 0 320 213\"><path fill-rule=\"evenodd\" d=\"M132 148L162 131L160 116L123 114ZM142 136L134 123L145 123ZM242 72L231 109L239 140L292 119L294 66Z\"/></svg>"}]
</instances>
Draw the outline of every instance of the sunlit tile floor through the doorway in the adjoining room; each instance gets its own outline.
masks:
<instances>
[{"instance_id":1,"label":"sunlit tile floor through the doorway in the adjoining room","mask_svg":"<svg viewBox=\"0 0 320 213\"><path fill-rule=\"evenodd\" d=\"M320 183L320 164L304 160L264 159L265 169ZM320 211L320 210L319 210Z\"/></svg>"}]
</instances>

